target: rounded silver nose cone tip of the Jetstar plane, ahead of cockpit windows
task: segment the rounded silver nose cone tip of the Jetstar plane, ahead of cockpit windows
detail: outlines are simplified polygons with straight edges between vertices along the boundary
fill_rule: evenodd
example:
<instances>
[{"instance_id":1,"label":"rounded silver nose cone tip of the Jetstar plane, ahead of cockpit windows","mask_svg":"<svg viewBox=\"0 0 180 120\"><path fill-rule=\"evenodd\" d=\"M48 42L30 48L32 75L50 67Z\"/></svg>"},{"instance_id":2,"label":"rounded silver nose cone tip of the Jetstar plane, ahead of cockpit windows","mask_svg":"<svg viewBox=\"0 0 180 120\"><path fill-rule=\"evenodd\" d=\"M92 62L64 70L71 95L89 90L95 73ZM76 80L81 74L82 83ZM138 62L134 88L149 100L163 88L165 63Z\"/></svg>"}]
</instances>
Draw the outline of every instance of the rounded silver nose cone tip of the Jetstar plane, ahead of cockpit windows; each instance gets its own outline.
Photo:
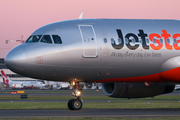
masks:
<instances>
[{"instance_id":1,"label":"rounded silver nose cone tip of the Jetstar plane, ahead of cockpit windows","mask_svg":"<svg viewBox=\"0 0 180 120\"><path fill-rule=\"evenodd\" d=\"M23 50L11 50L5 57L6 66L13 72L24 71L26 65L26 53Z\"/></svg>"}]
</instances>

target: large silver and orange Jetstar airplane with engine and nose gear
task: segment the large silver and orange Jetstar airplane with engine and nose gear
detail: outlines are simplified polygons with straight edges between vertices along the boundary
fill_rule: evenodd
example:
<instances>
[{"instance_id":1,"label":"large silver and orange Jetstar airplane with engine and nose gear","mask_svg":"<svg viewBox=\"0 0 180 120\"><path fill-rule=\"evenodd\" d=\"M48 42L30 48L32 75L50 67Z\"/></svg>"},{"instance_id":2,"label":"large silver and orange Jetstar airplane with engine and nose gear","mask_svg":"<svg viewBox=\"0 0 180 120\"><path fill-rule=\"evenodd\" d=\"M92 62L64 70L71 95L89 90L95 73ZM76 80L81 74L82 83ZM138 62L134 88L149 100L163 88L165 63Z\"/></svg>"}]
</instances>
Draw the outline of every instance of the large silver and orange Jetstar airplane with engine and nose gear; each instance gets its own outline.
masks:
<instances>
[{"instance_id":1,"label":"large silver and orange Jetstar airplane with engine and nose gear","mask_svg":"<svg viewBox=\"0 0 180 120\"><path fill-rule=\"evenodd\" d=\"M74 19L47 24L5 57L15 73L70 82L70 110L82 108L81 82L115 98L153 97L180 82L180 21Z\"/></svg>"}]
</instances>

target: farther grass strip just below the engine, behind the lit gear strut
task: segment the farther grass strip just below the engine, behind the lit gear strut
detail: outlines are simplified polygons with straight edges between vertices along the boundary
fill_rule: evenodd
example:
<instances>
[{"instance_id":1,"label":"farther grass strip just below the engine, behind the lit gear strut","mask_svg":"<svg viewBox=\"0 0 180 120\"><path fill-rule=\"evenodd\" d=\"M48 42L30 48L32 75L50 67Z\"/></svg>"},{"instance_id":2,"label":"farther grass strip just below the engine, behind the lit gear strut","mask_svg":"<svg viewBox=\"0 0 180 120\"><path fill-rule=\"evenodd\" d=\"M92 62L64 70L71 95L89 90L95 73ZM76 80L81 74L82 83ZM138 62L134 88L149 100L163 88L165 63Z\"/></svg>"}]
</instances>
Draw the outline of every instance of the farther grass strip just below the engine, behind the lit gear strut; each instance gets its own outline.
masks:
<instances>
[{"instance_id":1,"label":"farther grass strip just below the engine, behind the lit gear strut","mask_svg":"<svg viewBox=\"0 0 180 120\"><path fill-rule=\"evenodd\" d=\"M25 100L70 100L73 97L70 95L28 95L28 99ZM128 100L127 98L112 98L105 95L93 96L84 95L83 100ZM20 94L18 95L1 95L0 100L21 100ZM130 100L179 100L179 95L160 95L148 98L136 98Z\"/></svg>"}]
</instances>

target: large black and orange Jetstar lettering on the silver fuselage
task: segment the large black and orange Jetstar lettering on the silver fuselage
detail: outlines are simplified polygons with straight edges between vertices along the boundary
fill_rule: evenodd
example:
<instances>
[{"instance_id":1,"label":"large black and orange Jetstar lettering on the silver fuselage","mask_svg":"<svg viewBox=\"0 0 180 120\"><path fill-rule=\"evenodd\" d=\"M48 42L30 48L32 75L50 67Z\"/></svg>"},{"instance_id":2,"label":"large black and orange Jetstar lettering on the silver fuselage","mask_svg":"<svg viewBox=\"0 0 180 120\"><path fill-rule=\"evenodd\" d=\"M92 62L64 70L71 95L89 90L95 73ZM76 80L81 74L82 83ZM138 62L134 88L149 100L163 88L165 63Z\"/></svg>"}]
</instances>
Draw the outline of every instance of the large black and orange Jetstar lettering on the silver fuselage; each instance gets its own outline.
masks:
<instances>
[{"instance_id":1,"label":"large black and orange Jetstar lettering on the silver fuselage","mask_svg":"<svg viewBox=\"0 0 180 120\"><path fill-rule=\"evenodd\" d=\"M114 42L111 42L111 45L114 49L122 49L124 47L123 34L122 34L121 29L117 29L116 31L117 31L119 39L121 40L121 43L116 44L116 42L114 41ZM138 44L139 37L142 40L142 42L141 42L142 47L145 50L148 50L150 48L152 48L154 50L160 50L163 47L163 43L165 44L165 48L167 50L172 50L172 49L180 50L180 46L178 46L178 43L180 43L180 39L177 40L177 38L180 37L180 33L171 35L171 34L168 34L166 30L162 30L161 34L151 33L148 35L147 33L144 33L144 31L142 29L139 29L139 33L137 35L134 33L127 33L125 35L125 39L127 39L126 46L131 50L137 49L140 45L140 44ZM176 42L173 42L172 45L167 42L167 40L169 40L170 37L176 41ZM135 40L134 45L130 44L132 42L132 39L130 39L130 38L134 38L134 40ZM153 42L153 40L155 40L156 45L154 43L147 44L146 39L149 39L151 42ZM163 39L163 43L160 42L160 39Z\"/></svg>"}]
</instances>

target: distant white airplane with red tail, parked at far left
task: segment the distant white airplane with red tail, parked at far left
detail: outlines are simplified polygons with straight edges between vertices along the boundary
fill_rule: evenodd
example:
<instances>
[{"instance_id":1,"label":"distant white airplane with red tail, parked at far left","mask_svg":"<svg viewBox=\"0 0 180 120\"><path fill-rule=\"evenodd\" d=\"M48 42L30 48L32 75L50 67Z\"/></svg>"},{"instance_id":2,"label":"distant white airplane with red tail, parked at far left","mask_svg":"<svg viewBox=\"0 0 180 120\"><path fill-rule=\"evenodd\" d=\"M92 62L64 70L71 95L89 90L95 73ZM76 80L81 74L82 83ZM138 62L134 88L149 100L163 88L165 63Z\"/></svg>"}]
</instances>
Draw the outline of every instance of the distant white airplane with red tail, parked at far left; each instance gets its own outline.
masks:
<instances>
[{"instance_id":1,"label":"distant white airplane with red tail, parked at far left","mask_svg":"<svg viewBox=\"0 0 180 120\"><path fill-rule=\"evenodd\" d=\"M43 82L39 81L12 81L10 80L3 70L1 70L1 75L3 79L3 84L11 87L11 88L43 88L45 87L45 84Z\"/></svg>"}]
</instances>

